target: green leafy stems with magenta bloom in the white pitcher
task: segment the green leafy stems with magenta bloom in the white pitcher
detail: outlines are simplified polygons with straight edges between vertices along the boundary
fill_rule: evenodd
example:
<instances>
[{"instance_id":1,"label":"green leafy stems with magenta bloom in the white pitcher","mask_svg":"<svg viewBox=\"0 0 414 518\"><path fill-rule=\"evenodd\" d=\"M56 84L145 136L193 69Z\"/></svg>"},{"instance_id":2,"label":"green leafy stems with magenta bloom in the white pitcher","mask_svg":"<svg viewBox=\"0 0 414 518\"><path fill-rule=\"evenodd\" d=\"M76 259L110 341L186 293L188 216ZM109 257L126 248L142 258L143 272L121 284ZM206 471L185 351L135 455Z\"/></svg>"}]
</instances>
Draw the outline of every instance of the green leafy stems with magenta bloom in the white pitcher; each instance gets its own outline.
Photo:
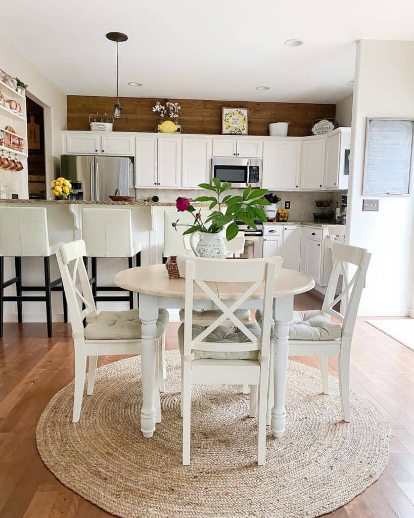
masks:
<instances>
[{"instance_id":1,"label":"green leafy stems with magenta bloom in the white pitcher","mask_svg":"<svg viewBox=\"0 0 414 518\"><path fill-rule=\"evenodd\" d=\"M209 209L214 210L208 217L203 220L201 208L197 211L191 205L188 198L177 198L176 207L179 212L190 212L194 217L194 224L179 224L180 220L172 223L172 226L188 226L184 234L192 234L193 232L208 232L217 234L226 227L226 238L228 241L236 237L239 232L238 221L242 221L246 225L256 229L255 219L266 221L266 214L261 208L262 205L270 205L268 200L262 197L268 192L267 189L252 189L248 186L241 195L232 196L223 194L231 188L229 182L221 183L217 178L213 178L213 185L209 183L200 183L201 189L214 193L211 196L199 196L195 202L210 202Z\"/></svg>"}]
</instances>

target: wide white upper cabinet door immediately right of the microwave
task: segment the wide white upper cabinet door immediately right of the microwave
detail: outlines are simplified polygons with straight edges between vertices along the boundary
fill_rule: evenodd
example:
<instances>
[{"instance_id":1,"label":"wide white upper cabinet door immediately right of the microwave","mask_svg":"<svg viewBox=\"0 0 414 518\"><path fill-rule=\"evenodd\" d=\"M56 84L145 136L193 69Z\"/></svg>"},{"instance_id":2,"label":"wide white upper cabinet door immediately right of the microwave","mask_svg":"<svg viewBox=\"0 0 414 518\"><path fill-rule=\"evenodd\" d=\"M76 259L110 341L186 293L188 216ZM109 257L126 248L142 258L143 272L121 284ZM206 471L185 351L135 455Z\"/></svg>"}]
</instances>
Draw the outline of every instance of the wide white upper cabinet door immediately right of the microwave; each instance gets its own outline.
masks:
<instances>
[{"instance_id":1,"label":"wide white upper cabinet door immediately right of the microwave","mask_svg":"<svg viewBox=\"0 0 414 518\"><path fill-rule=\"evenodd\" d=\"M301 166L300 140L266 140L263 145L262 187L299 189Z\"/></svg>"}]
</instances>

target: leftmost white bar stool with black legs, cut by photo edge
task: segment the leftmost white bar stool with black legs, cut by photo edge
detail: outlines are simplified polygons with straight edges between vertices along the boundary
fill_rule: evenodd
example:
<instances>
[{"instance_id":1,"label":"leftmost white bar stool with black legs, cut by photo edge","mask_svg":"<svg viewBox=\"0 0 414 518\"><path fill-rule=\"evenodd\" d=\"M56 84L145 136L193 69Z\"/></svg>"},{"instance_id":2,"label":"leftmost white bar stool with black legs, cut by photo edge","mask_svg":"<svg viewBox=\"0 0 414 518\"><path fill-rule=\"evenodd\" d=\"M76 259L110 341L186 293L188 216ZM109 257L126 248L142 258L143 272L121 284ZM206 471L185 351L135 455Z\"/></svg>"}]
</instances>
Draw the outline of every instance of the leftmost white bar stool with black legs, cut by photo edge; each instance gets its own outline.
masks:
<instances>
[{"instance_id":1,"label":"leftmost white bar stool with black legs, cut by photo edge","mask_svg":"<svg viewBox=\"0 0 414 518\"><path fill-rule=\"evenodd\" d=\"M47 214L44 207L0 208L0 338L3 337L5 302L17 302L18 322L23 322L23 302L46 302L48 337L52 337L51 291L62 291L63 316L67 322L67 305L62 279L50 280L50 256L55 255L62 242L50 242ZM14 257L16 275L4 280L4 257ZM24 286L22 282L22 257L43 257L45 285ZM16 295L4 296L7 286L16 284ZM43 296L22 295L24 291L44 291Z\"/></svg>"}]
</instances>

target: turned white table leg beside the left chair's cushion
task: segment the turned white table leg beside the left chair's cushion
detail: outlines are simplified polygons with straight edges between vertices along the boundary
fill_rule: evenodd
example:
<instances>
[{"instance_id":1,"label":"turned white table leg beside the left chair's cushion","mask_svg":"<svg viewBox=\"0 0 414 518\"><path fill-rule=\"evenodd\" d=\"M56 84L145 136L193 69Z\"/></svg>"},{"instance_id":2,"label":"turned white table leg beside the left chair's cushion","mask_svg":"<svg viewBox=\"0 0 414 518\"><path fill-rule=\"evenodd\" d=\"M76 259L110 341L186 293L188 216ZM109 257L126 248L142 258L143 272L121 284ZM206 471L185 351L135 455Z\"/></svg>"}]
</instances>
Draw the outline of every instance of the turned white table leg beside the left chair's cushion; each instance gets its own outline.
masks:
<instances>
[{"instance_id":1,"label":"turned white table leg beside the left chair's cushion","mask_svg":"<svg viewBox=\"0 0 414 518\"><path fill-rule=\"evenodd\" d=\"M142 321L142 407L141 431L152 437L155 431L154 380L156 362L157 297L140 294L139 316Z\"/></svg>"}]
</instances>

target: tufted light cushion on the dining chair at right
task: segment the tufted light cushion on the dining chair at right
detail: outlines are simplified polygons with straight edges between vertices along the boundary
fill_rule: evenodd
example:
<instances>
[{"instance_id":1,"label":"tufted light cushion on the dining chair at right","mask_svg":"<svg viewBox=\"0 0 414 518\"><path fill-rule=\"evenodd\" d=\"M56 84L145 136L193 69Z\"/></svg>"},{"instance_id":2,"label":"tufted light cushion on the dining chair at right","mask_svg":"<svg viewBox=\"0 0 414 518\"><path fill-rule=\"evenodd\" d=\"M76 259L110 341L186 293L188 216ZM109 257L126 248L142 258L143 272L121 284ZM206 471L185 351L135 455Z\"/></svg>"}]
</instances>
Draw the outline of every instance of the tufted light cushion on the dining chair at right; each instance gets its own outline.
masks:
<instances>
[{"instance_id":1,"label":"tufted light cushion on the dining chair at right","mask_svg":"<svg viewBox=\"0 0 414 518\"><path fill-rule=\"evenodd\" d=\"M256 310L255 316L256 322L261 325L261 311ZM289 322L289 340L336 340L341 336L341 326L323 316L319 309L293 311L293 319Z\"/></svg>"}]
</instances>

